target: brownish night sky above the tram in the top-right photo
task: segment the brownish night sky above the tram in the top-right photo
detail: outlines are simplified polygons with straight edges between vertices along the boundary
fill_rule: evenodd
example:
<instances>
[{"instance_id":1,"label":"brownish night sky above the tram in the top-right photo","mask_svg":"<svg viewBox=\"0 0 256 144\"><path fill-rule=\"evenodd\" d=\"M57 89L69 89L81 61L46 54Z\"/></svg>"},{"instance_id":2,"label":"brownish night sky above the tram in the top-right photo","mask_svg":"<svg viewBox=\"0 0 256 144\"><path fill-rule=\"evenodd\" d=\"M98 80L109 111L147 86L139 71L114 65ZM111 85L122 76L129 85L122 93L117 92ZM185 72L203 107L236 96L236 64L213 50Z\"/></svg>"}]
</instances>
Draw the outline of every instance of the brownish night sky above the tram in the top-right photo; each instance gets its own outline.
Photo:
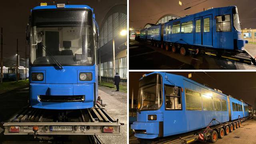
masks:
<instances>
[{"instance_id":1,"label":"brownish night sky above the tram in the top-right photo","mask_svg":"<svg viewBox=\"0 0 256 144\"><path fill-rule=\"evenodd\" d=\"M201 12L204 8L237 6L242 28L256 28L256 0L130 0L129 27L143 28L145 24L155 24L165 14L176 14L180 17ZM204 2L206 1L206 2ZM197 6L194 6L200 2ZM189 6L194 6L184 10ZM183 11L181 11L183 10ZM181 11L181 12L180 12Z\"/></svg>"}]
</instances>

